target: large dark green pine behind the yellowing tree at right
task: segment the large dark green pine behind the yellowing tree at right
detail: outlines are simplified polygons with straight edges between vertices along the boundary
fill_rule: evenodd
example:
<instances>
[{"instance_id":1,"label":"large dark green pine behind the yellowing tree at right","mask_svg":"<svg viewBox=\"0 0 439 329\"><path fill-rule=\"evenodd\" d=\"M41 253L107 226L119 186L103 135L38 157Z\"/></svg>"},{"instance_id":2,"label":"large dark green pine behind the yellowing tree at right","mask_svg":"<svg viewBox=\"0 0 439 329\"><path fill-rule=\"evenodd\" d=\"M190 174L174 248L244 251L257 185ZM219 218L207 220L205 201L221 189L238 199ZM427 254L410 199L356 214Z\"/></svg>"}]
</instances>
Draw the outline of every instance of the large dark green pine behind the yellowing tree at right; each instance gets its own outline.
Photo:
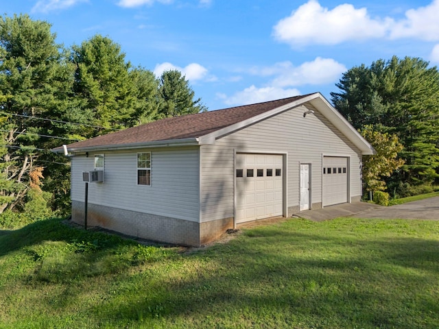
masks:
<instances>
[{"instance_id":1,"label":"large dark green pine behind the yellowing tree at right","mask_svg":"<svg viewBox=\"0 0 439 329\"><path fill-rule=\"evenodd\" d=\"M336 84L340 93L331 93L354 127L373 125L398 136L405 164L397 180L410 184L431 184L439 173L439 72L428 66L396 56L362 64L344 73Z\"/></svg>"}]
</instances>

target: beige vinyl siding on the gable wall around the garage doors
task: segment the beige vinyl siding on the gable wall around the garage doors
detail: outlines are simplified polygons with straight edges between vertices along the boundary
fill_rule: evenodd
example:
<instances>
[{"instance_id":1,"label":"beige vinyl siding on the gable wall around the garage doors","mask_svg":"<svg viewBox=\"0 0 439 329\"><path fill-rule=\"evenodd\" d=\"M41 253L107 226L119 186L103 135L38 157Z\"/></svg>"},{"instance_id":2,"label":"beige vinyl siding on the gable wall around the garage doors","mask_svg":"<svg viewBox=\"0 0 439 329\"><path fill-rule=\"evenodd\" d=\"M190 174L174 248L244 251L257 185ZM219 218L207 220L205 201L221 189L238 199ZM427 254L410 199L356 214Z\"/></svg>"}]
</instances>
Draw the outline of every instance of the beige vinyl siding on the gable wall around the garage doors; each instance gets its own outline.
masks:
<instances>
[{"instance_id":1,"label":"beige vinyl siding on the gable wall around the garage doors","mask_svg":"<svg viewBox=\"0 0 439 329\"><path fill-rule=\"evenodd\" d=\"M315 111L303 117L307 108ZM287 152L287 206L299 206L300 162L311 165L311 200L322 202L322 154L351 156L351 197L361 195L361 151L315 108L300 106L265 119L215 145L202 145L201 221L234 217L234 156ZM289 214L290 215L290 214Z\"/></svg>"}]
</instances>

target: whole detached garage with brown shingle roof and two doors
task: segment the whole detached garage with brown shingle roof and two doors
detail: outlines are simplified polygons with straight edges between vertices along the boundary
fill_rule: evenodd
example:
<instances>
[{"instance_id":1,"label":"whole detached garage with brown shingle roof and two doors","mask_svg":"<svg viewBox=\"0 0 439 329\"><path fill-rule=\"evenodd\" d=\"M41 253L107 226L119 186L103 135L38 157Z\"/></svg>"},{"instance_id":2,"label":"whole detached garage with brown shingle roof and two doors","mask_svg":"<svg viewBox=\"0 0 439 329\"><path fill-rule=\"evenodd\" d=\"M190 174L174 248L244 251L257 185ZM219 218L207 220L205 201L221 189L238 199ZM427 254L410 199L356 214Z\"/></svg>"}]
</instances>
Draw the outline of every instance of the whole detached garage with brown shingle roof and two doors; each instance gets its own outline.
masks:
<instances>
[{"instance_id":1,"label":"whole detached garage with brown shingle roof and two doors","mask_svg":"<svg viewBox=\"0 0 439 329\"><path fill-rule=\"evenodd\" d=\"M189 114L58 147L72 220L202 245L240 223L361 198L373 149L320 93ZM84 174L86 173L86 174Z\"/></svg>"}]
</instances>

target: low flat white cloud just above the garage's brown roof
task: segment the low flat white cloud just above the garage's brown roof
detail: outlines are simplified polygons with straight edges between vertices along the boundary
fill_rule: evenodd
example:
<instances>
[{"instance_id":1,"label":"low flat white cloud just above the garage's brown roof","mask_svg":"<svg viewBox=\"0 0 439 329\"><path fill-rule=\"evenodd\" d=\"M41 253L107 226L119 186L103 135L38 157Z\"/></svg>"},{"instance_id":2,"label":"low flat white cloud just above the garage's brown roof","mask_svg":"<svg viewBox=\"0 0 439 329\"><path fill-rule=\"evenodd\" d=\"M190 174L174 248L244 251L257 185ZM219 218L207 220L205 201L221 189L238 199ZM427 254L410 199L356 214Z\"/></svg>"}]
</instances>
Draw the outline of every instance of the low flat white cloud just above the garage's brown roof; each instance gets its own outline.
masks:
<instances>
[{"instance_id":1,"label":"low flat white cloud just above the garage's brown roof","mask_svg":"<svg viewBox=\"0 0 439 329\"><path fill-rule=\"evenodd\" d=\"M272 101L274 99L282 99L296 95L300 95L300 91L296 88L284 89L273 86L257 88L252 85L235 93L235 95L231 97L227 97L227 95L222 93L218 93L217 97L222 99L227 105L233 106Z\"/></svg>"}]
</instances>

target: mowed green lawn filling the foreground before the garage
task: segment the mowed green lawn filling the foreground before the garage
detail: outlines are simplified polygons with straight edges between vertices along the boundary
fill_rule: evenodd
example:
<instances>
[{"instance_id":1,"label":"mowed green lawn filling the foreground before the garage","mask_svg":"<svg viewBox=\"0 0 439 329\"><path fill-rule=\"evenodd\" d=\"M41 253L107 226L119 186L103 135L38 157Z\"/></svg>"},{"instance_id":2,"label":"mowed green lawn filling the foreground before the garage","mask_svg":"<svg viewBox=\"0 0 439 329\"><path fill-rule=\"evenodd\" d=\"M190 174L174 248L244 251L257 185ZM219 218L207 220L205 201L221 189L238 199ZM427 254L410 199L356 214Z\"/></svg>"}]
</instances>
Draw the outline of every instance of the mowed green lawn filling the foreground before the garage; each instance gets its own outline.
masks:
<instances>
[{"instance_id":1,"label":"mowed green lawn filling the foreground before the garage","mask_svg":"<svg viewBox=\"0 0 439 329\"><path fill-rule=\"evenodd\" d=\"M290 219L187 250L0 231L0 328L438 326L438 221Z\"/></svg>"}]
</instances>

